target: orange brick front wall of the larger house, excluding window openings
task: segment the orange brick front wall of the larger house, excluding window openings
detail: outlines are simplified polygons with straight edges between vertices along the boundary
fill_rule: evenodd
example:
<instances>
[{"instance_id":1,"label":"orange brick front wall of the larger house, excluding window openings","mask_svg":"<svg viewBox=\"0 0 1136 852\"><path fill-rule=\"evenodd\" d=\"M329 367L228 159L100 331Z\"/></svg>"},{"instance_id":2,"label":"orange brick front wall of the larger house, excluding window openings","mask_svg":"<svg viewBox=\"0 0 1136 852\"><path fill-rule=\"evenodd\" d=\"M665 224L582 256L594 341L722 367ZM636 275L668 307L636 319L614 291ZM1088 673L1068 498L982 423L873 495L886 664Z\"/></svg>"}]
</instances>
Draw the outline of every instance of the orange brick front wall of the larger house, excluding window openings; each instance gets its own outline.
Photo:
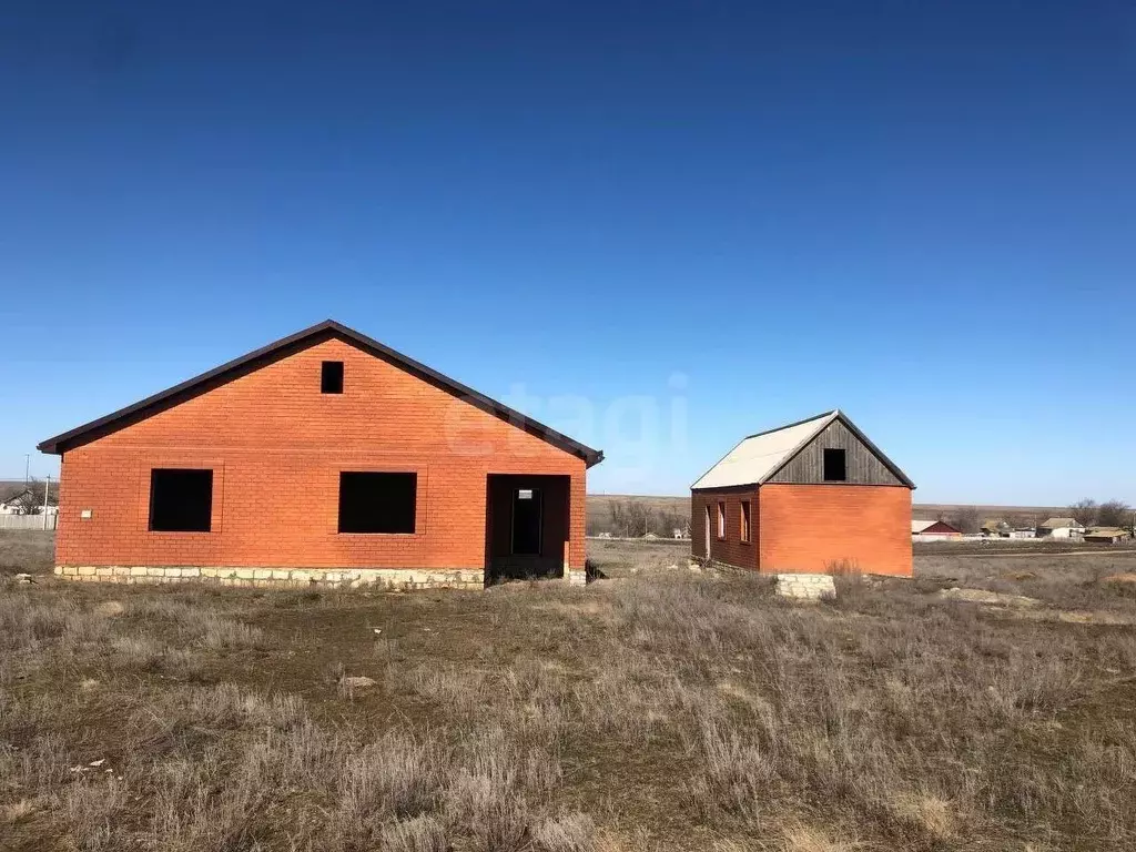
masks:
<instances>
[{"instance_id":1,"label":"orange brick front wall of the larger house, excluding window openings","mask_svg":"<svg viewBox=\"0 0 1136 852\"><path fill-rule=\"evenodd\" d=\"M344 362L342 394L319 392L325 360ZM479 574L487 475L546 474L570 477L563 561L583 576L583 459L337 339L69 450L61 465L56 561L76 570ZM214 470L211 532L148 529L158 467ZM416 532L340 534L341 470L417 473Z\"/></svg>"}]
</instances>

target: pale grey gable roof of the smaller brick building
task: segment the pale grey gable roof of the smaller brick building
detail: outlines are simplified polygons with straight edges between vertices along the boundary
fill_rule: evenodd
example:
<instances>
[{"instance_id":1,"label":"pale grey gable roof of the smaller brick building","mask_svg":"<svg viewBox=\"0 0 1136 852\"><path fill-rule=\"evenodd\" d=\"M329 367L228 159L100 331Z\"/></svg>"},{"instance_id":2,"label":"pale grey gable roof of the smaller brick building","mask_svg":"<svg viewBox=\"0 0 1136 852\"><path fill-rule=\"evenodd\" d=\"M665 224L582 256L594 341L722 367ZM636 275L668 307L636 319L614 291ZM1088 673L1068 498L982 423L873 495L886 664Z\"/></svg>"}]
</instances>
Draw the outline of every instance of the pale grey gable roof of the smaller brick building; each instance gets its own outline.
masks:
<instances>
[{"instance_id":1,"label":"pale grey gable roof of the smaller brick building","mask_svg":"<svg viewBox=\"0 0 1136 852\"><path fill-rule=\"evenodd\" d=\"M829 424L840 420L884 463L895 477L913 488L916 485L860 432L838 408L807 420L797 420L768 432L742 438L742 441L712 468L707 470L691 488L725 488L737 485L761 485L787 465L810 441L824 432Z\"/></svg>"}]
</instances>

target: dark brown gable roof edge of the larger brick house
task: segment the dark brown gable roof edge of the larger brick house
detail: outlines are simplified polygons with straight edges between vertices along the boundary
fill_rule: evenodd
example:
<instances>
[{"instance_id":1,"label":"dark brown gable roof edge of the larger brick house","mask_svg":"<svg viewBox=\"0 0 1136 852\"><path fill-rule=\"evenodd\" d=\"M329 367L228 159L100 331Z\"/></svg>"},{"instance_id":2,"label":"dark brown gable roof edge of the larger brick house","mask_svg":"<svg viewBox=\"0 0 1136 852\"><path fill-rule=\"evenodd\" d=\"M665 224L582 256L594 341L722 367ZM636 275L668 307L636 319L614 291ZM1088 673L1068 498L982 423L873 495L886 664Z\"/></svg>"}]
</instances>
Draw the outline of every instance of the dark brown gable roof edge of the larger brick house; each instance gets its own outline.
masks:
<instances>
[{"instance_id":1,"label":"dark brown gable roof edge of the larger brick house","mask_svg":"<svg viewBox=\"0 0 1136 852\"><path fill-rule=\"evenodd\" d=\"M178 385L174 385L173 387L161 391L160 393L156 393L152 396L147 396L144 400L135 402L133 406L119 409L118 411L114 411L106 417L100 417L97 420L91 420L91 423L78 426L69 432L56 435L55 437L49 437L47 441L39 444L37 449L41 452L61 456L67 450L72 450L76 446L94 441L98 437L117 432L118 429L135 424L139 420L143 420L147 417L156 415L159 411L165 411L166 409L173 408L174 406L193 399L194 396L200 396L201 394L219 387L220 385L227 384L235 378L248 375L249 373L258 370L261 367L274 364L275 361L303 351L304 349L308 349L317 343L332 339L342 340L358 346L364 352L367 352L375 358L399 367L410 375L451 393L469 404L479 408L494 417L501 418L517 428L524 429L531 435L535 435L536 437L548 441L553 446L584 459L588 467L603 461L602 451L593 450L591 446L586 446L578 441L574 441L567 435L561 435L556 429L545 426L542 423L537 423L533 418L509 408L504 403L490 399L485 394L478 393L471 387L467 387L460 382L457 382L449 376L444 376L437 370L431 369L426 365L420 364L412 358L408 358L401 352L396 352L390 346L385 346L378 341L368 337L365 334L360 334L353 328L348 328L345 325L341 325L333 319L324 320L323 323L314 325L310 328L304 328L303 331L289 335L287 337L282 337L275 343L269 343L267 346L249 352L248 354L241 356L240 358L228 361L227 364L223 364L219 367L215 367L208 373L202 373L200 376L194 376L193 378L182 382Z\"/></svg>"}]
</instances>

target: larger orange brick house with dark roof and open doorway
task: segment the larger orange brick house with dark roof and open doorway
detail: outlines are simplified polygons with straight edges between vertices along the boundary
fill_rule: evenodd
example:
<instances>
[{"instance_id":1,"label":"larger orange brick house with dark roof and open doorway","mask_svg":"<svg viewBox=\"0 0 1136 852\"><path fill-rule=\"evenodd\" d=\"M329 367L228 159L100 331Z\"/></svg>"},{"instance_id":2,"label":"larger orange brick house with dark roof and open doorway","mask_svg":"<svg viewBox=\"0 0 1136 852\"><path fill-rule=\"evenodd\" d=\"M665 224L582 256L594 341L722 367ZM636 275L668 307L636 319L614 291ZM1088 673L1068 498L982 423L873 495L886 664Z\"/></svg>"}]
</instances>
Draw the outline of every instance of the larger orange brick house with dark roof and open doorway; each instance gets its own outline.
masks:
<instances>
[{"instance_id":1,"label":"larger orange brick house with dark roof and open doorway","mask_svg":"<svg viewBox=\"0 0 1136 852\"><path fill-rule=\"evenodd\" d=\"M40 450L57 574L225 585L582 583L603 458L331 320Z\"/></svg>"}]
</instances>

